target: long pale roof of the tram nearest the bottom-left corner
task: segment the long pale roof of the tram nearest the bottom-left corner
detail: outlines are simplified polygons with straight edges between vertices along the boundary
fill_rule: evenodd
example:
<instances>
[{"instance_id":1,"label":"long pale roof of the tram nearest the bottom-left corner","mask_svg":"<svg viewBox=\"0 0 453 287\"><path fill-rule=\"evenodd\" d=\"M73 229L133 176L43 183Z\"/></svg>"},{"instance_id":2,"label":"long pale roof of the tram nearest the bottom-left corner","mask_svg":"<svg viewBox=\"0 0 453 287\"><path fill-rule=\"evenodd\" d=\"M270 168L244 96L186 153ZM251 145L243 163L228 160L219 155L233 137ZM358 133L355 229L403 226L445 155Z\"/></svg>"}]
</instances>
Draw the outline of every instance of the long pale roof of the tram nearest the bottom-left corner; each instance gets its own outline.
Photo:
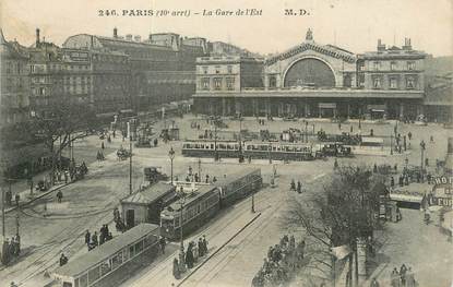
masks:
<instances>
[{"instance_id":1,"label":"long pale roof of the tram nearest the bottom-left corner","mask_svg":"<svg viewBox=\"0 0 453 287\"><path fill-rule=\"evenodd\" d=\"M58 267L53 274L59 276L76 277L82 273L93 268L100 262L109 259L115 253L123 250L129 244L134 243L139 239L158 229L159 226L154 224L138 225L124 234L121 234L114 239L105 242L104 244L95 248L88 253L85 253L74 260L70 260L68 264Z\"/></svg>"}]
</instances>

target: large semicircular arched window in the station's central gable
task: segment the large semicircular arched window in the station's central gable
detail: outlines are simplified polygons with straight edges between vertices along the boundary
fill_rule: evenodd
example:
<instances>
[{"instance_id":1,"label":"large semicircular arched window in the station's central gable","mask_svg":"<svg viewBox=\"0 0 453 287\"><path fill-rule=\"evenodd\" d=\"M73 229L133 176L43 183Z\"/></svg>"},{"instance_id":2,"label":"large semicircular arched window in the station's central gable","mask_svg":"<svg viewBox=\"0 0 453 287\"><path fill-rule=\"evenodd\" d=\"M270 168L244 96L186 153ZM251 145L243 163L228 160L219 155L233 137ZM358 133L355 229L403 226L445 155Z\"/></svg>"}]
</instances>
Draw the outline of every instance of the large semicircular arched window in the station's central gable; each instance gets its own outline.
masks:
<instances>
[{"instance_id":1,"label":"large semicircular arched window in the station's central gable","mask_svg":"<svg viewBox=\"0 0 453 287\"><path fill-rule=\"evenodd\" d=\"M307 58L294 63L285 75L285 86L335 86L335 75L321 60Z\"/></svg>"}]
</instances>

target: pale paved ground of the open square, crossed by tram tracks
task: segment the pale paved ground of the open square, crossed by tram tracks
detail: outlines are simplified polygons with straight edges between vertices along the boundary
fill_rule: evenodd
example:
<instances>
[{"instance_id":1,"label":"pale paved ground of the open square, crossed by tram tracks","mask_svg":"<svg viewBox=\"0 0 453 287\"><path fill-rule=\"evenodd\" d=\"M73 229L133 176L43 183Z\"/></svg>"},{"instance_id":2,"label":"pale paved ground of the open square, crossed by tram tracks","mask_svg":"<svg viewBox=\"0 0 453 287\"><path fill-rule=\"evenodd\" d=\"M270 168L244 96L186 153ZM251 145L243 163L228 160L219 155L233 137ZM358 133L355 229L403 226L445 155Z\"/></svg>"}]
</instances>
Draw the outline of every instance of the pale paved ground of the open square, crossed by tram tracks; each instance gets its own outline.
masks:
<instances>
[{"instance_id":1,"label":"pale paved ground of the open square, crossed by tram tracks","mask_svg":"<svg viewBox=\"0 0 453 287\"><path fill-rule=\"evenodd\" d=\"M181 130L181 139L198 137L195 131L190 128L191 121L198 121L202 124L201 132L210 125L201 119L193 117L186 117L184 119L177 119L176 124ZM229 130L238 131L239 122L226 121ZM259 131L263 127L258 125L255 119L247 119L242 123L242 129L251 131ZM337 124L330 122L310 121L310 124L315 125L315 131L323 129L327 132L339 132ZM358 123L351 123L354 129ZM362 131L373 129L375 135L385 135L393 132L393 124L370 124L361 123ZM269 122L271 131L282 131L288 127L301 128L301 122ZM156 130L163 127L158 123ZM342 130L349 131L349 124L342 124ZM427 142L427 157L434 163L437 159L442 159L446 151L446 131L439 125L416 127L409 124L398 124L398 132L402 134L410 131L414 134L412 148L405 154L395 154L386 157L373 156L357 156L355 158L341 158L339 164L397 164L400 167L404 165L404 159L408 158L409 165L419 165L420 150L418 143L420 140ZM429 137L433 135L434 142L430 143ZM163 171L170 174L170 165L168 159L168 151L170 146L176 151L175 158L175 175L184 175L187 169L192 166L198 168L198 158L182 157L180 154L181 142L170 142L168 144L159 143L156 148L134 148L133 151L133 189L138 189L143 182L143 167L145 166L160 166ZM0 270L1 282L15 280L24 284L24 286L41 286L49 282L48 277L44 276L46 271L50 272L57 266L58 258L61 252L68 255L71 260L86 252L86 247L83 242L83 234L86 229L92 231L98 230L103 224L109 223L112 219L112 208L119 203L119 200L129 193L129 160L118 162L115 151L120 145L129 146L128 142L122 142L119 137L114 140L111 145L107 145L105 154L107 159L98 163L90 160L95 158L96 152L100 146L100 140L97 136L88 136L78 141L75 145L75 156L85 158L88 165L90 172L87 177L81 181L69 184L62 188L63 202L56 203L55 192L50 193L26 207L21 208L20 214L20 232L22 237L22 255L19 261L12 263L8 268ZM90 162L88 162L90 160ZM259 217L254 219L247 228L240 231L234 239L227 242L236 232L238 232L245 225L252 220L253 216L250 213L250 198L237 203L234 207L223 212L219 216L214 218L204 229L196 231L193 238L204 234L210 239L211 252L224 246L213 258L211 258L203 266L201 266L193 275L191 275L182 285L183 286L245 286L249 285L251 278L258 272L262 264L262 260L266 254L269 246L278 242L284 232L289 232L281 226L279 217L285 211L285 204L288 198L288 187L290 180L300 179L306 183L315 184L327 178L326 174L332 170L333 159L301 162L283 164L274 160L277 166L279 175L277 179L278 187L276 189L264 189L257 194L257 214ZM211 158L202 159L202 174L217 175L218 177L228 172L231 169L240 168L239 166L249 166L249 164L238 164L237 159L222 159L220 163L214 163ZM264 175L264 182L270 182L270 175L272 166L267 160L252 160L253 166L261 167ZM236 166L238 166L236 168ZM182 177L181 177L182 178ZM17 187L19 190L19 187ZM45 207L47 208L45 211ZM410 211L412 212L412 211ZM15 212L7 215L7 237L15 234ZM433 235L433 238L417 237L421 240L418 243L410 243L407 246L407 253L401 255L401 259L420 271L420 283L430 282L430 272L425 265L429 262L432 268L436 267L434 259L445 255L444 248L450 247L450 243L432 244L430 248L424 249L431 258L427 262L418 262L424 256L419 253L412 254L413 249L419 252L420 246L429 244L434 239L438 239L438 232L434 227L420 226L421 219L419 215L412 213L407 216L403 214L407 222L403 220L402 226L405 228L398 229L398 232L392 231L393 226L389 229L392 231L390 236L396 238L405 238L402 242L409 240L417 232L426 232ZM418 217L417 217L418 216ZM410 222L409 222L410 220ZM419 226L420 229L414 229L414 226ZM432 229L432 230L431 230ZM293 230L295 231L295 230ZM297 238L296 232L296 238ZM444 240L443 237L440 239ZM445 241L445 240L444 240ZM175 243L177 246L177 243ZM434 250L431 250L436 248ZM175 248L176 250L176 248ZM393 253L392 249L383 249L385 253ZM417 255L418 254L418 255ZM123 283L123 286L140 286L141 283L154 282L155 286L162 286L165 283L169 286L174 283L171 276L172 254L166 254L167 258L157 260L147 268L141 271L134 277L129 278ZM413 259L414 261L410 261ZM431 260L432 259L432 260ZM400 264L397 259L394 263ZM439 261L442 262L442 261ZM441 270L445 270L450 264L442 263ZM393 266L389 264L389 267ZM425 265L424 265L425 264ZM421 272L424 271L424 272ZM438 274L438 272L436 272ZM443 272L442 272L443 274ZM386 271L382 273L383 277L388 277ZM438 275L443 276L443 275ZM443 277L445 278L445 277ZM165 285L164 285L165 286Z\"/></svg>"}]
</instances>

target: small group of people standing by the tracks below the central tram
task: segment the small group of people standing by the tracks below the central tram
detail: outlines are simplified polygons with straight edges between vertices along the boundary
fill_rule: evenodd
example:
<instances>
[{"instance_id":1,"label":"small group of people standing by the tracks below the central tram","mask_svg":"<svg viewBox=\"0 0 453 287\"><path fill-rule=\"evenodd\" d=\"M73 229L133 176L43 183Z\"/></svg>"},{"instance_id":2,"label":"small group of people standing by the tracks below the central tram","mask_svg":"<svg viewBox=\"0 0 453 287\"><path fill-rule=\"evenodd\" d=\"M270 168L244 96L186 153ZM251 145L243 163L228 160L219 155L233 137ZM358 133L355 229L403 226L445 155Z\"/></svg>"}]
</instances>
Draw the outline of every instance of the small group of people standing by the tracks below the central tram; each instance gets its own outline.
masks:
<instances>
[{"instance_id":1,"label":"small group of people standing by the tracks below the central tram","mask_svg":"<svg viewBox=\"0 0 453 287\"><path fill-rule=\"evenodd\" d=\"M200 258L203 258L208 252L206 236L199 238L199 241L191 241L186 250L180 251L179 259L174 259L172 274L176 279L180 279L181 275L187 271L193 268L194 264Z\"/></svg>"}]
</instances>

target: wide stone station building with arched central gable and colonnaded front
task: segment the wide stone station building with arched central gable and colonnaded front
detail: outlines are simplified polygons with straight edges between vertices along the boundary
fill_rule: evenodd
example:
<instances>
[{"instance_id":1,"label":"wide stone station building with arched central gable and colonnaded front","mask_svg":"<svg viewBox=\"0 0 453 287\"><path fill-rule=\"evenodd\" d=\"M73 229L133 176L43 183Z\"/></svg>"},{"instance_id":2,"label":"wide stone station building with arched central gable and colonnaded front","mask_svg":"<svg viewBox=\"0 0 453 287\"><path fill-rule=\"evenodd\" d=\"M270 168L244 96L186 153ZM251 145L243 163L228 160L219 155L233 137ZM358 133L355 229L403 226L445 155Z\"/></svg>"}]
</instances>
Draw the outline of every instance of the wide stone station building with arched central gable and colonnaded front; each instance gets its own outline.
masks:
<instances>
[{"instance_id":1,"label":"wide stone station building with arched central gable and colonnaded front","mask_svg":"<svg viewBox=\"0 0 453 287\"><path fill-rule=\"evenodd\" d=\"M303 43L266 59L199 58L194 106L217 116L416 119L425 58L407 38L356 55L315 43L309 29Z\"/></svg>"}]
</instances>

